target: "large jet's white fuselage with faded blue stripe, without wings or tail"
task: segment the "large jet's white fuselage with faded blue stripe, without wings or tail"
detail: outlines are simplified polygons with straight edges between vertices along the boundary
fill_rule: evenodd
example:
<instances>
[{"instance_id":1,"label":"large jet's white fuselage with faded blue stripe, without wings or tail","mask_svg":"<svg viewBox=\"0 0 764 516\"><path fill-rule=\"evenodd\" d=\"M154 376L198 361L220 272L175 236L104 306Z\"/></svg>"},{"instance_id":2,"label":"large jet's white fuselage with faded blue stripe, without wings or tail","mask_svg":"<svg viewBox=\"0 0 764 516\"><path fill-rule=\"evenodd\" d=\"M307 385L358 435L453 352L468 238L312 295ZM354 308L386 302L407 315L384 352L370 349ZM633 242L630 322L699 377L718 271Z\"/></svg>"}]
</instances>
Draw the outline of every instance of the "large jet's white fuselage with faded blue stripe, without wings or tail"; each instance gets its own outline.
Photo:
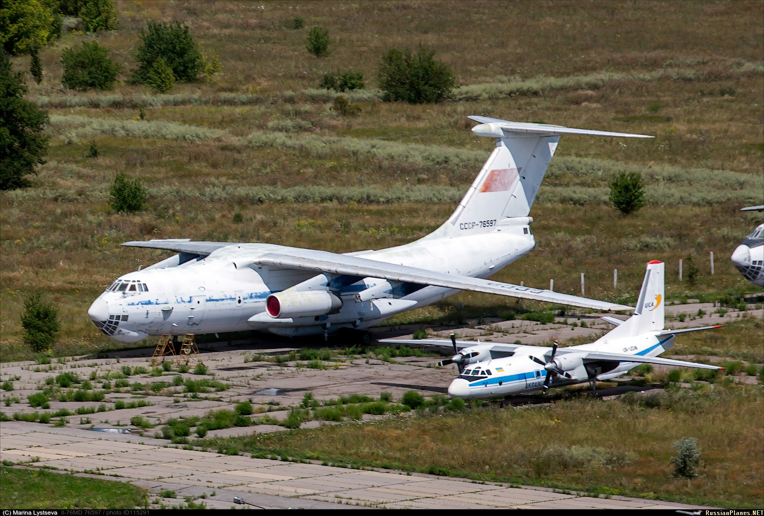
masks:
<instances>
[{"instance_id":1,"label":"large jet's white fuselage with faded blue stripe, without wings or tail","mask_svg":"<svg viewBox=\"0 0 764 516\"><path fill-rule=\"evenodd\" d=\"M505 226L458 239L421 239L351 254L430 271L488 277L535 245L528 226ZM246 329L299 336L334 333L344 327L365 329L395 313L426 306L459 291L372 277L359 281L355 277L334 289L342 299L336 313L278 320L266 313L267 297L316 277L316 272L249 264L258 256L290 249L272 244L233 244L206 258L184 263L176 255L122 275L94 301L88 313L96 326L120 342L137 342L161 334ZM357 294L370 288L378 289L380 294L371 300L358 300Z\"/></svg>"}]
</instances>

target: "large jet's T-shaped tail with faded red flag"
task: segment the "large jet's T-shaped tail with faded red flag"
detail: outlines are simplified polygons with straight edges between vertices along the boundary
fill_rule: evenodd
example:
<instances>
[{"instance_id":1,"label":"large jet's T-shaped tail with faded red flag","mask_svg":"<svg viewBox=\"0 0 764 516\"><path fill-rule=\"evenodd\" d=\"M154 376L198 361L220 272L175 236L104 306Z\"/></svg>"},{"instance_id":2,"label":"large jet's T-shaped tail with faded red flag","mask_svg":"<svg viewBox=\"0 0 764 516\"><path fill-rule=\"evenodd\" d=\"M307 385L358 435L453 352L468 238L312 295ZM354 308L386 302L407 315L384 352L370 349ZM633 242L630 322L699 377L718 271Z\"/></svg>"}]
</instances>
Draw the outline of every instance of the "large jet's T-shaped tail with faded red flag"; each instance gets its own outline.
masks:
<instances>
[{"instance_id":1,"label":"large jet's T-shaped tail with faded red flag","mask_svg":"<svg viewBox=\"0 0 764 516\"><path fill-rule=\"evenodd\" d=\"M591 131L559 125L468 117L472 132L496 139L496 148L448 221L433 236L453 237L494 231L507 224L529 224L528 217L560 135L653 138L619 132ZM515 220L511 220L515 219Z\"/></svg>"}]
</instances>

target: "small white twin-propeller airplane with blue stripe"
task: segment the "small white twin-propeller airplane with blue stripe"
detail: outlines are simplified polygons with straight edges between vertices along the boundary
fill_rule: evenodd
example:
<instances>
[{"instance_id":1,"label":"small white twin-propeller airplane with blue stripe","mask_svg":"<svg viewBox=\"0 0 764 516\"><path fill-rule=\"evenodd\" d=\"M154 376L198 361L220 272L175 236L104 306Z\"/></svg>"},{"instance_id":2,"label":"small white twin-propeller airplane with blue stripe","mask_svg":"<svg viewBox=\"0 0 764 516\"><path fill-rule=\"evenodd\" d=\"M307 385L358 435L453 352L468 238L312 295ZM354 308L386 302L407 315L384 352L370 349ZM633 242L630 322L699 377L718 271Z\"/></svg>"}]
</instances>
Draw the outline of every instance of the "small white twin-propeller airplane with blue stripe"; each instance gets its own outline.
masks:
<instances>
[{"instance_id":1,"label":"small white twin-propeller airplane with blue stripe","mask_svg":"<svg viewBox=\"0 0 764 516\"><path fill-rule=\"evenodd\" d=\"M676 333L720 327L664 329L663 269L662 261L647 264L634 315L625 321L603 317L616 327L591 344L568 348L558 348L557 342L551 348L500 343L475 345L457 341L453 333L451 342L439 339L383 339L380 342L453 346L455 355L440 365L457 365L459 376L448 386L448 394L465 399L534 394L550 386L584 382L591 382L595 389L595 381L623 375L640 363L724 369L657 356L674 346Z\"/></svg>"}]
</instances>

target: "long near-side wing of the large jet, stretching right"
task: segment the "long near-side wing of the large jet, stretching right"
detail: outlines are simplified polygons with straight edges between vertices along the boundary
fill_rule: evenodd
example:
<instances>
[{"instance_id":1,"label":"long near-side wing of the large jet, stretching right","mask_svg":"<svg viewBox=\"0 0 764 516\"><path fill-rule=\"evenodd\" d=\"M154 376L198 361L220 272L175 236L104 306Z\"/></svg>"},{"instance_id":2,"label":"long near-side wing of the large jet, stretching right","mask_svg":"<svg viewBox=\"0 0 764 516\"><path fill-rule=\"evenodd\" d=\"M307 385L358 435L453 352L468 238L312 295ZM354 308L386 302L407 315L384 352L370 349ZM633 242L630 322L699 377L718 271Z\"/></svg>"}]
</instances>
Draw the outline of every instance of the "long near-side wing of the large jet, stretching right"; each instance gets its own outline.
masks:
<instances>
[{"instance_id":1,"label":"long near-side wing of the large jet, stretching right","mask_svg":"<svg viewBox=\"0 0 764 516\"><path fill-rule=\"evenodd\" d=\"M560 294L553 290L523 287L522 285L484 280L480 277L428 271L426 269L391 264L385 261L376 261L358 256L338 255L333 252L299 248L291 248L291 251L295 252L295 254L267 253L260 258L254 259L251 263L267 267L292 268L299 271L316 271L317 273L323 272L326 274L380 277L389 281L456 288L458 290L473 290L486 294L520 297L523 299L545 301L547 303L561 303L574 307L592 308L594 310L634 310L632 307L626 307L622 304Z\"/></svg>"}]
</instances>

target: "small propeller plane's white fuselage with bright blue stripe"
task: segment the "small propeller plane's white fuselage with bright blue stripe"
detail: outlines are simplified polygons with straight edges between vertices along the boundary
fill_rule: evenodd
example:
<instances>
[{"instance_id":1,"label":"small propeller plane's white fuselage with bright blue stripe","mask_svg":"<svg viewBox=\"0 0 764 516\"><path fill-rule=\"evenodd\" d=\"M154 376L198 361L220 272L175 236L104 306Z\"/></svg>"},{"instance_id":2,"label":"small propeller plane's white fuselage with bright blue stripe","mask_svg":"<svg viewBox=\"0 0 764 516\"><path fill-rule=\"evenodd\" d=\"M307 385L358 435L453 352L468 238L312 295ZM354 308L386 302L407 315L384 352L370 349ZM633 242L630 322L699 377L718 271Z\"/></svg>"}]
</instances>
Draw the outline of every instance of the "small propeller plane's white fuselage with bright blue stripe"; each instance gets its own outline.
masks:
<instances>
[{"instance_id":1,"label":"small propeller plane's white fuselage with bright blue stripe","mask_svg":"<svg viewBox=\"0 0 764 516\"><path fill-rule=\"evenodd\" d=\"M562 348L565 351L609 351L629 355L657 356L674 345L674 336L657 336L656 333L640 336L598 341L581 346ZM550 374L542 365L530 359L535 356L542 359L551 348L539 346L520 346L514 354L500 359L488 359L465 366L458 378L448 387L448 394L464 399L497 398L510 394L534 394L542 390L546 375ZM462 352L469 352L463 349ZM565 357L565 355L559 355ZM639 365L638 362L598 362L581 364L571 368L568 373L572 378L556 376L552 387L574 385L597 380L607 380L623 375Z\"/></svg>"}]
</instances>

